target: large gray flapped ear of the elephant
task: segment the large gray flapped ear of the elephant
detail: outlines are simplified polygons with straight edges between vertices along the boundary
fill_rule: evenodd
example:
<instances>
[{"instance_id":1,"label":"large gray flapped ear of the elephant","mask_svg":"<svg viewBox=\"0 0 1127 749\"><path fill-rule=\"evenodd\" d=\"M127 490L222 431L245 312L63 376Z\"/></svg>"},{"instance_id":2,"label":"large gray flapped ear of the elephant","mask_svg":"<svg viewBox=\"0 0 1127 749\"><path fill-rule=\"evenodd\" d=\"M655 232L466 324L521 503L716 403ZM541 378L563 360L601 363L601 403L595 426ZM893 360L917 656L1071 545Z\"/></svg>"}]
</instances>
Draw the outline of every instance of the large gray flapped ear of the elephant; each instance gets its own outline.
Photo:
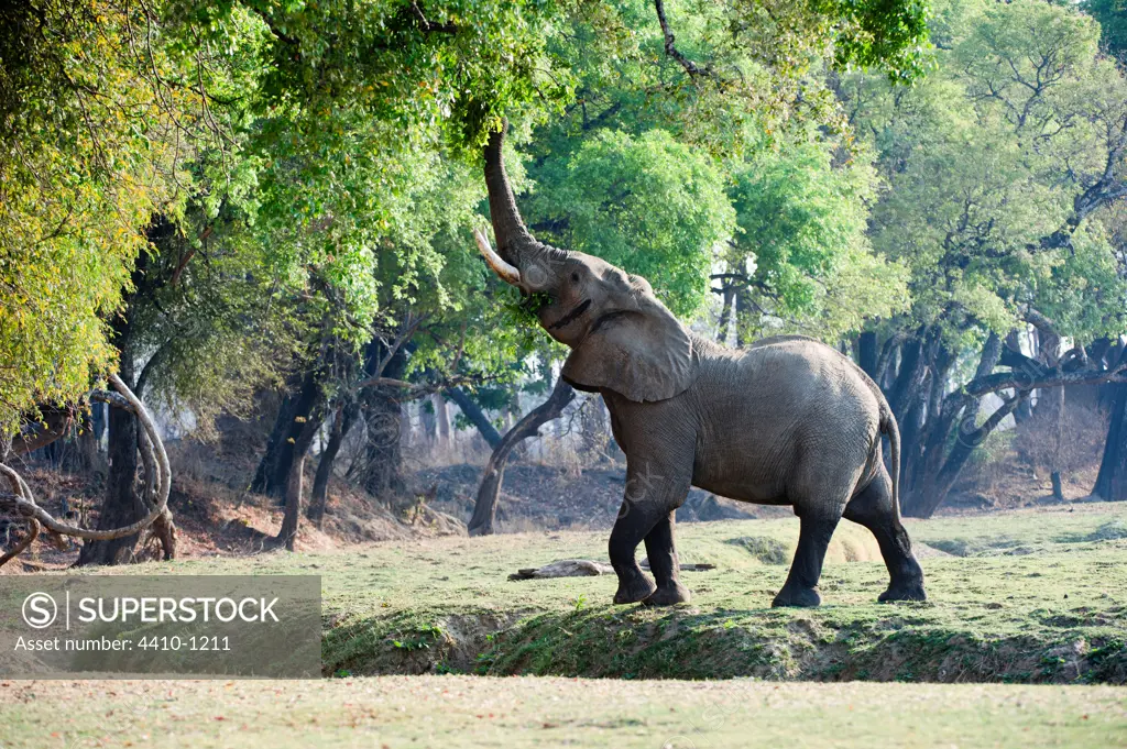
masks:
<instances>
[{"instance_id":1,"label":"large gray flapped ear of the elephant","mask_svg":"<svg viewBox=\"0 0 1127 749\"><path fill-rule=\"evenodd\" d=\"M664 401L696 378L689 330L649 295L635 310L601 319L560 373L577 390L613 390L631 401Z\"/></svg>"}]
</instances>

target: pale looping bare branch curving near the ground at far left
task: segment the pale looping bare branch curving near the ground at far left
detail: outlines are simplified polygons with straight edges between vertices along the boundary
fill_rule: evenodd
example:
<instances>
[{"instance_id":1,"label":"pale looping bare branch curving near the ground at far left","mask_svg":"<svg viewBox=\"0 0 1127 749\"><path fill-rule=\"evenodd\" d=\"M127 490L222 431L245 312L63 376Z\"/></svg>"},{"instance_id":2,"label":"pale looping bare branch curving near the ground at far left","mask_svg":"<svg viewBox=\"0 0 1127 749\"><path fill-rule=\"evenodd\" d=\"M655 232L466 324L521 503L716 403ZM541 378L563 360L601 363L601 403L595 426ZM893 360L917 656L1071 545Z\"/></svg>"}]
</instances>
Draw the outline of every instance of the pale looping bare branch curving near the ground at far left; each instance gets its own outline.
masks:
<instances>
[{"instance_id":1,"label":"pale looping bare branch curving near the ground at far left","mask_svg":"<svg viewBox=\"0 0 1127 749\"><path fill-rule=\"evenodd\" d=\"M168 511L168 494L172 488L172 470L168 461L168 453L165 452L165 444L160 439L152 416L144 408L144 404L141 403L141 400L133 394L133 391L116 374L109 375L109 382L117 391L116 393L95 391L90 393L90 400L109 403L116 408L124 408L137 418L137 422L144 435L141 455L147 472L144 500L150 507L149 514L136 523L109 530L95 530L63 523L36 505L27 483L24 482L16 471L2 463L0 463L0 473L7 476L14 491L11 493L0 491L0 511L25 518L29 525L35 524L32 540L34 540L34 535L38 534L38 526L41 524L47 530L63 536L73 536L86 541L113 541L114 538L132 536L159 520L161 526L163 526L160 534L161 543L165 545L166 558L168 558L171 555L171 549L168 542L166 542L165 535L168 536L168 541L170 542L171 514ZM12 549L5 555L0 564L24 551L29 544L30 541L26 541L18 549Z\"/></svg>"}]
</instances>

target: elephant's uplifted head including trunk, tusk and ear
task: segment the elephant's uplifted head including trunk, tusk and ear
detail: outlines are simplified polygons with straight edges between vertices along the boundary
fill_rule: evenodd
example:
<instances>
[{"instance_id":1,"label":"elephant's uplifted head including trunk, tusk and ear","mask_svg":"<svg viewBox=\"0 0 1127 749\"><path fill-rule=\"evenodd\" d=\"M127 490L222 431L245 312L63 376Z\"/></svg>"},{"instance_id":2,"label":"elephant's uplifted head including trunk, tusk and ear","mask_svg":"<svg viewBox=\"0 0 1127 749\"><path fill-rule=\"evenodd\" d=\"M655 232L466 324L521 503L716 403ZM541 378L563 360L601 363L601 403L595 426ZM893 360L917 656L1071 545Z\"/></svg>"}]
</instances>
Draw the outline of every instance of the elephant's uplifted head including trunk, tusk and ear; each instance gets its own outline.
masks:
<instances>
[{"instance_id":1,"label":"elephant's uplifted head including trunk, tusk and ear","mask_svg":"<svg viewBox=\"0 0 1127 749\"><path fill-rule=\"evenodd\" d=\"M505 173L504 130L486 145L486 186L497 252L478 247L504 280L532 296L540 324L570 347L562 376L578 390L611 390L632 401L660 401L696 376L689 330L654 295L649 282L583 252L538 242L521 219Z\"/></svg>"}]
</instances>

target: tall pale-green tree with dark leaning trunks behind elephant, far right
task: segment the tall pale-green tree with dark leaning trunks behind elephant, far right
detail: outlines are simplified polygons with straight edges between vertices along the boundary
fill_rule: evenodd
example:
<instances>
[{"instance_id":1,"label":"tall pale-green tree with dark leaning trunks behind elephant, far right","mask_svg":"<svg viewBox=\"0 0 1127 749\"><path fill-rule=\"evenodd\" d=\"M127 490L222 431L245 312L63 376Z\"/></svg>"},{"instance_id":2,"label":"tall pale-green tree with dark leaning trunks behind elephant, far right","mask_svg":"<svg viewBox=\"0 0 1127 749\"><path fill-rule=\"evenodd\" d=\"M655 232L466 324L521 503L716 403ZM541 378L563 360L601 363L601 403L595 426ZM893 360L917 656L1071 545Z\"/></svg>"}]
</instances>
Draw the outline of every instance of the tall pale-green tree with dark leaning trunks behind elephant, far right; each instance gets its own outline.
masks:
<instances>
[{"instance_id":1,"label":"tall pale-green tree with dark leaning trunks behind elephant, far right","mask_svg":"<svg viewBox=\"0 0 1127 749\"><path fill-rule=\"evenodd\" d=\"M935 10L926 81L897 90L848 77L840 88L888 184L873 246L912 274L911 312L889 339L899 366L885 364L915 515L934 511L1030 391L1113 376L1083 344L1125 329L1127 293L1091 221L1127 195L1127 83L1099 54L1095 25L1036 1ZM1062 364L1000 345L1026 324L1077 348ZM997 392L1003 405L982 412Z\"/></svg>"}]
</instances>

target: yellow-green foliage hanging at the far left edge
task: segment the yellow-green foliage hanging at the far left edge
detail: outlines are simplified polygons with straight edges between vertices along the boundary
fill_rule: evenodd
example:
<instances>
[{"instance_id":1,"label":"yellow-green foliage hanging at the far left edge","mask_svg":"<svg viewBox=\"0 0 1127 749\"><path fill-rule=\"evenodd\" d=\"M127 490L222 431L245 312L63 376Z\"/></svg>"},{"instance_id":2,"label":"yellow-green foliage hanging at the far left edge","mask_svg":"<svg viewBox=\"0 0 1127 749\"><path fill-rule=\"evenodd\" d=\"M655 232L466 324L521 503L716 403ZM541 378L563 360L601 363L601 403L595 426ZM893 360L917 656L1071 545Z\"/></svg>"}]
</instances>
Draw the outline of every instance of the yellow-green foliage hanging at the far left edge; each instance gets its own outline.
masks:
<instances>
[{"instance_id":1,"label":"yellow-green foliage hanging at the far left edge","mask_svg":"<svg viewBox=\"0 0 1127 749\"><path fill-rule=\"evenodd\" d=\"M10 431L112 366L106 323L143 230L180 209L183 159L210 136L190 114L199 97L167 84L178 61L137 38L143 10L16 3L0 17L0 431Z\"/></svg>"}]
</instances>

